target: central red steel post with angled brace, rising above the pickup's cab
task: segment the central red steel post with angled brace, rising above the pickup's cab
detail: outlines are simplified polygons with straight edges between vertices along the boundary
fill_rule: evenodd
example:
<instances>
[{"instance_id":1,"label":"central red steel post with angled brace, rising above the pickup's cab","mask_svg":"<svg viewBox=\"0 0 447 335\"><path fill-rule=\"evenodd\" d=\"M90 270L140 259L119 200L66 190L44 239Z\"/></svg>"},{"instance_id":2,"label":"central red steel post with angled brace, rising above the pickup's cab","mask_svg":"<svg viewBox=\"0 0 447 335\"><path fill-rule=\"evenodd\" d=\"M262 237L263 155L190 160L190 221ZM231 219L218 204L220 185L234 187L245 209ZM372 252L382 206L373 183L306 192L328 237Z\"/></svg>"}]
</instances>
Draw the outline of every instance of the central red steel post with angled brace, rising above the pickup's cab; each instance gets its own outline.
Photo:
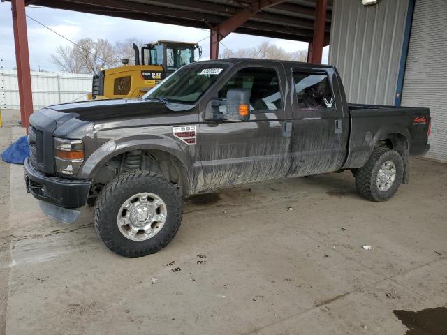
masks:
<instances>
[{"instance_id":1,"label":"central red steel post with angled brace, rising above the pickup's cab","mask_svg":"<svg viewBox=\"0 0 447 335\"><path fill-rule=\"evenodd\" d=\"M256 0L244 9L237 10L235 15L228 17L225 21L212 27L210 31L210 59L219 58L219 43L228 36L231 32L235 31L238 27L242 26L250 17L253 17L259 10L274 6L285 0ZM323 31L324 34L324 31Z\"/></svg>"}]
</instances>

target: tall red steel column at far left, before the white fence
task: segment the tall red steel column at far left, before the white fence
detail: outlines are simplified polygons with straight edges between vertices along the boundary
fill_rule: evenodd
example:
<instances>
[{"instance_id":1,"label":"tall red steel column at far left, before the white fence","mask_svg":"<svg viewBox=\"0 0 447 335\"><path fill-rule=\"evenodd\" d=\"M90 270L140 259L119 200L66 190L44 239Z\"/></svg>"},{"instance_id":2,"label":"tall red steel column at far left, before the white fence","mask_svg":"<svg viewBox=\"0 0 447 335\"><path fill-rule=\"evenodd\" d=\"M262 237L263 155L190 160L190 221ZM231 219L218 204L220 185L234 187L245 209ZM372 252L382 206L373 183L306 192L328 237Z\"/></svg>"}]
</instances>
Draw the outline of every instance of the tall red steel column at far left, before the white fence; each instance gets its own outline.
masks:
<instances>
[{"instance_id":1,"label":"tall red steel column at far left, before the white fence","mask_svg":"<svg viewBox=\"0 0 447 335\"><path fill-rule=\"evenodd\" d=\"M27 17L24 0L12 0L13 29L15 44L15 61L19 82L20 117L22 127L28 132L29 116L33 113L33 96L31 94L31 73L29 69Z\"/></svg>"}]
</instances>

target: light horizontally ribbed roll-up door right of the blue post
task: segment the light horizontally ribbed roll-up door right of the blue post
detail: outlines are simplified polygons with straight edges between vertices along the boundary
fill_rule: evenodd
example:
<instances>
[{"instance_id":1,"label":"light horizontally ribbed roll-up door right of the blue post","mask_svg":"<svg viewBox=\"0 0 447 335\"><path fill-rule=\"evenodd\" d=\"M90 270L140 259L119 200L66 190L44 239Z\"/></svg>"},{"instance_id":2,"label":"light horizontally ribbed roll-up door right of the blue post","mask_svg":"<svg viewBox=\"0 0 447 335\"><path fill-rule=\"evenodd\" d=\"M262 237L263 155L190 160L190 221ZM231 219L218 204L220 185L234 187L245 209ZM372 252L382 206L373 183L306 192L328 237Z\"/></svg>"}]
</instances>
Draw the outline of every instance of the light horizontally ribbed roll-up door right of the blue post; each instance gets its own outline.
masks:
<instances>
[{"instance_id":1,"label":"light horizontally ribbed roll-up door right of the blue post","mask_svg":"<svg viewBox=\"0 0 447 335\"><path fill-rule=\"evenodd\" d=\"M447 1L417 0L402 105L429 107L430 151L425 157L447 163Z\"/></svg>"}]
</instances>

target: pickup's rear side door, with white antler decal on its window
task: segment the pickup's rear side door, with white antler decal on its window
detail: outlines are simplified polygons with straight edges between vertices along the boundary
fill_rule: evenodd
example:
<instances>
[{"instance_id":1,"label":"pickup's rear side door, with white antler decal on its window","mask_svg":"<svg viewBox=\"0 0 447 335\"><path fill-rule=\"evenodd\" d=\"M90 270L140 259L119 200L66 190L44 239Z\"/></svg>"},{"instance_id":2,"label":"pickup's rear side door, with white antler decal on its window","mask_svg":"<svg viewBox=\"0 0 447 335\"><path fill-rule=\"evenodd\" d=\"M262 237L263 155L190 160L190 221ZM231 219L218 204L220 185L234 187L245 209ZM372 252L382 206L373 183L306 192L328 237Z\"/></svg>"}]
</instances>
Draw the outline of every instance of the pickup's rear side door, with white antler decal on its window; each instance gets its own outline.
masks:
<instances>
[{"instance_id":1,"label":"pickup's rear side door, with white antler decal on its window","mask_svg":"<svg viewBox=\"0 0 447 335\"><path fill-rule=\"evenodd\" d=\"M338 170L346 158L349 119L332 68L289 68L292 139L289 176Z\"/></svg>"}]
</instances>

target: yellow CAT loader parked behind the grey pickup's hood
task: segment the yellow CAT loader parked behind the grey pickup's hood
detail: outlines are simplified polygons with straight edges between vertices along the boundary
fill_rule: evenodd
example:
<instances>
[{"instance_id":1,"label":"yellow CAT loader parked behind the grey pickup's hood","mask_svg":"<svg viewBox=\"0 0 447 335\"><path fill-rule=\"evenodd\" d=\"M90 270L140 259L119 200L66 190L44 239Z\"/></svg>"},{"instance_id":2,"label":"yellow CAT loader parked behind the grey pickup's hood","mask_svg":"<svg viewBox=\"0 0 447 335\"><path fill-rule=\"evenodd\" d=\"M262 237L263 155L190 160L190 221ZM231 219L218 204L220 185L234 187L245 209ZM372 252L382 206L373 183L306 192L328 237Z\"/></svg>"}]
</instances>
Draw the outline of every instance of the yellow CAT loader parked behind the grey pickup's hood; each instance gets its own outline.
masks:
<instances>
[{"instance_id":1,"label":"yellow CAT loader parked behind the grey pickup's hood","mask_svg":"<svg viewBox=\"0 0 447 335\"><path fill-rule=\"evenodd\" d=\"M133 43L135 65L121 59L122 66L99 71L93 77L91 94L87 99L136 98L144 95L177 68L202 56L197 43L159 40L138 48Z\"/></svg>"}]
</instances>

